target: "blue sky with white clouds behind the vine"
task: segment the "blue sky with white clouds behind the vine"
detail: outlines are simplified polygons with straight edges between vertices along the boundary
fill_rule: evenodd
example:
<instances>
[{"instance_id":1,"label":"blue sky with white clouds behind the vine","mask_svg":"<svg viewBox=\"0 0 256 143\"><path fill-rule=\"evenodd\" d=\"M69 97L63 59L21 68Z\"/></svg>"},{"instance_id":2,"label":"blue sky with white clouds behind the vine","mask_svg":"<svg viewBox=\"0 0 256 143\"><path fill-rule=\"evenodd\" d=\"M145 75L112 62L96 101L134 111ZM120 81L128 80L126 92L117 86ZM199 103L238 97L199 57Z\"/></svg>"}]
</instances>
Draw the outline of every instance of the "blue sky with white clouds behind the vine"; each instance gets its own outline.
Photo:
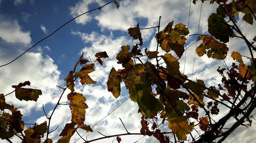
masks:
<instances>
[{"instance_id":1,"label":"blue sky with white clouds behind the vine","mask_svg":"<svg viewBox=\"0 0 256 143\"><path fill-rule=\"evenodd\" d=\"M120 4L119 9L116 9L116 6L112 3L101 10L83 15L62 27L53 36L37 44L12 64L0 68L0 93L6 95L13 91L11 85L27 80L31 82L29 88L42 91L42 95L37 102L19 101L15 99L14 94L6 97L7 103L15 105L22 112L25 123L40 124L48 121L44 116L42 105L44 104L46 112L50 115L62 92L56 85L65 87L64 79L69 71L73 70L82 52L84 52L85 59L89 59L90 56L93 60L95 53L106 51L109 58L104 59L103 66L96 65L96 71L90 73L91 78L97 83L80 85L75 82L75 90L87 98L89 106L86 110L85 123L92 127L122 102L123 104L99 122L93 128L94 132L84 135L84 138L90 140L102 137L97 133L98 131L104 135L125 133L126 131L119 118L122 119L127 130L138 133L141 128L141 115L137 113L137 103L129 99L124 84L121 84L121 96L117 99L113 97L112 93L108 92L106 87L111 68L121 68L121 65L118 65L115 59L120 47L122 45L132 46L136 42L129 37L127 29L136 26L138 22L140 27L157 26L159 16L161 16L160 30L163 30L165 25L173 20L174 24L184 23L187 25L188 15L190 15L189 35L197 34L198 31L199 34L204 34L207 32L208 16L215 13L217 8L215 4L209 5L209 2L204 2L201 9L201 2L199 1L197 5L191 4L189 13L189 1L119 0L118 2ZM106 3L108 2L104 0L0 0L0 65L10 62L73 17ZM241 26L244 35L251 41L255 36L256 24L249 25L245 23L242 16L239 15L238 17L238 25ZM252 32L253 30L254 32ZM142 48L156 49L157 43L154 38L156 32L156 28L141 31L144 40ZM186 59L180 59L180 71L184 71L189 78L193 77L193 80L196 78L204 80L206 86L217 85L221 81L221 76L218 75L216 69L219 66L224 67L224 62L208 59L207 56L199 58L196 55L194 58L195 48L200 44L200 42L195 42L196 38L195 36L188 37L187 46L191 46L186 50ZM230 56L232 51L240 51L242 55L249 55L245 43L240 39L231 39L227 46L229 52L225 62L228 66L233 62ZM161 53L163 52L160 51ZM253 54L256 55L255 52ZM193 67L193 65L195 66ZM69 90L65 92L63 98L61 98L61 103L68 103L66 95L69 92ZM220 119L227 112L228 110L223 107L216 119ZM50 134L50 138L57 141L64 125L70 122L69 105L58 106L53 115L50 129L54 130L57 126L59 127ZM230 120L230 123L232 122L234 121ZM162 130L170 131L167 126L164 126ZM252 140L256 139L256 136L253 135L255 130L254 124L248 128L239 127L225 142L253 142ZM81 135L84 134L84 131L78 131ZM137 142L158 142L154 137L141 137L143 136L121 136L122 142L136 142L137 140ZM170 135L170 138L173 138L173 136ZM14 137L12 140L16 142L18 138ZM114 138L95 142L112 141L117 142ZM5 140L1 140L1 142L5 142ZM70 142L78 143L84 142L84 140L78 134L74 134Z\"/></svg>"}]
</instances>

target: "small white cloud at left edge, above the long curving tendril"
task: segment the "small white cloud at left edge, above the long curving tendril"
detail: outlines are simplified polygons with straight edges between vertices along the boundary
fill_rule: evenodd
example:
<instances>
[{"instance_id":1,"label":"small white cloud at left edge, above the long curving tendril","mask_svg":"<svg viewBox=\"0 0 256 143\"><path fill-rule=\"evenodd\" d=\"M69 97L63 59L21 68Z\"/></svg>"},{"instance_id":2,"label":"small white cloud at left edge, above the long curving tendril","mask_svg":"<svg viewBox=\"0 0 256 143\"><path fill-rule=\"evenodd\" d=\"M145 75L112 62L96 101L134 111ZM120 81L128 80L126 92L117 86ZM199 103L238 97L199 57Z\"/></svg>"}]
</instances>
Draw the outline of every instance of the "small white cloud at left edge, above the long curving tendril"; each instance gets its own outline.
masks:
<instances>
[{"instance_id":1,"label":"small white cloud at left edge, above the long curving tendril","mask_svg":"<svg viewBox=\"0 0 256 143\"><path fill-rule=\"evenodd\" d=\"M31 43L30 32L24 32L18 20L7 19L0 15L0 37L7 43Z\"/></svg>"}]
</instances>

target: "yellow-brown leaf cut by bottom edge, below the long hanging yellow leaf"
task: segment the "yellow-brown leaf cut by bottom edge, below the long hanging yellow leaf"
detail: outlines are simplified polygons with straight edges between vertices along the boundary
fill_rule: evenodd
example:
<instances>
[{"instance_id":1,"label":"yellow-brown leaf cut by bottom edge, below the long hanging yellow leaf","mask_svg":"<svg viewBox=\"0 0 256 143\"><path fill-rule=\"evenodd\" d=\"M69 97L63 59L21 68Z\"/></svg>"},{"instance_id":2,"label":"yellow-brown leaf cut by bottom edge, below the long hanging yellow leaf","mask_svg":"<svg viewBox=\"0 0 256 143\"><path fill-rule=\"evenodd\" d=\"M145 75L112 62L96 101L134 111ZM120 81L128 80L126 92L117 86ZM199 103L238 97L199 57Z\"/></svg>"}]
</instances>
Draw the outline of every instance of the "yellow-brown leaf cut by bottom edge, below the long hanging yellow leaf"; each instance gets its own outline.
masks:
<instances>
[{"instance_id":1,"label":"yellow-brown leaf cut by bottom edge, below the long hanging yellow leaf","mask_svg":"<svg viewBox=\"0 0 256 143\"><path fill-rule=\"evenodd\" d=\"M62 136L60 139L58 139L58 143L67 143L70 141L70 138L73 136L75 133L76 129L75 128L76 123L67 123L64 127L64 129L61 131L59 136Z\"/></svg>"}]
</instances>

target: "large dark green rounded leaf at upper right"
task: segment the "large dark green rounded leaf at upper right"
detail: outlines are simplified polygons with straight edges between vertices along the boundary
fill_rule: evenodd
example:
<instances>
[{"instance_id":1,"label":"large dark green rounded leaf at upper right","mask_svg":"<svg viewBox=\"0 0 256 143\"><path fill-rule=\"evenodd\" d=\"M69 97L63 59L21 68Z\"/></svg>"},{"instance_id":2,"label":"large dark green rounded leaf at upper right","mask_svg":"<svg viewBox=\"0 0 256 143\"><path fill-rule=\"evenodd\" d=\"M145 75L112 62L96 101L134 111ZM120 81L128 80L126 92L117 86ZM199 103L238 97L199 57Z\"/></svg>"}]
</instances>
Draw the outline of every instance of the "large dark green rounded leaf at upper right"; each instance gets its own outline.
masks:
<instances>
[{"instance_id":1,"label":"large dark green rounded leaf at upper right","mask_svg":"<svg viewBox=\"0 0 256 143\"><path fill-rule=\"evenodd\" d=\"M233 31L225 23L221 16L212 13L208 18L208 32L221 42L227 43L229 37L232 37Z\"/></svg>"}]
</instances>

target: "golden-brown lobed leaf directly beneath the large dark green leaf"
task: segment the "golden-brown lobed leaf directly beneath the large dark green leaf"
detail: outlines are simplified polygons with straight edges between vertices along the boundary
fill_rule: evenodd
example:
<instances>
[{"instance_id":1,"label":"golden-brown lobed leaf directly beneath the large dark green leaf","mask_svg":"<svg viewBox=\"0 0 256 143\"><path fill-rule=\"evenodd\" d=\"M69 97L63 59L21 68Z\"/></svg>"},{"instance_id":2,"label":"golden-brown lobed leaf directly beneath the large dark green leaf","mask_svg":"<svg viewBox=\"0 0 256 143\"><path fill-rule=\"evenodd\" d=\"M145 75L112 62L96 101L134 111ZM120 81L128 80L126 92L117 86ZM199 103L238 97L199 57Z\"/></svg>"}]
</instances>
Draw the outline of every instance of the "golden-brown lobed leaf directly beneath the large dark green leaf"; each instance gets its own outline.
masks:
<instances>
[{"instance_id":1,"label":"golden-brown lobed leaf directly beneath the large dark green leaf","mask_svg":"<svg viewBox=\"0 0 256 143\"><path fill-rule=\"evenodd\" d=\"M197 48L198 56L203 56L207 52L208 58L223 60L227 56L228 47L210 36L202 36L199 40L203 40Z\"/></svg>"}]
</instances>

